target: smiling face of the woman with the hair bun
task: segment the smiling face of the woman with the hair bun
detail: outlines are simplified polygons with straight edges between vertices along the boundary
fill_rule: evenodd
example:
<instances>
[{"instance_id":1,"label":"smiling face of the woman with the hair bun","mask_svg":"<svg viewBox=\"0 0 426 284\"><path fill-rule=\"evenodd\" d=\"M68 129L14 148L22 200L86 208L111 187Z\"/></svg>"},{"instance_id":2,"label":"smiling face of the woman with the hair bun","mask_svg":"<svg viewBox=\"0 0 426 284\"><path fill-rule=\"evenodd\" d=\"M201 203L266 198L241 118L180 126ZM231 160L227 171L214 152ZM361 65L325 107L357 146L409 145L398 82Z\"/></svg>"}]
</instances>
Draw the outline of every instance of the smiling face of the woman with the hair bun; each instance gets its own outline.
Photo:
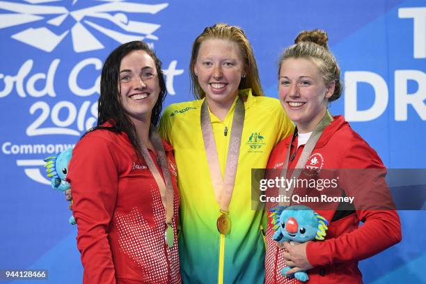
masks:
<instances>
[{"instance_id":1,"label":"smiling face of the woman with the hair bun","mask_svg":"<svg viewBox=\"0 0 426 284\"><path fill-rule=\"evenodd\" d=\"M278 97L300 133L312 132L324 116L334 83L326 86L317 65L306 58L287 58L281 64Z\"/></svg>"}]
</instances>

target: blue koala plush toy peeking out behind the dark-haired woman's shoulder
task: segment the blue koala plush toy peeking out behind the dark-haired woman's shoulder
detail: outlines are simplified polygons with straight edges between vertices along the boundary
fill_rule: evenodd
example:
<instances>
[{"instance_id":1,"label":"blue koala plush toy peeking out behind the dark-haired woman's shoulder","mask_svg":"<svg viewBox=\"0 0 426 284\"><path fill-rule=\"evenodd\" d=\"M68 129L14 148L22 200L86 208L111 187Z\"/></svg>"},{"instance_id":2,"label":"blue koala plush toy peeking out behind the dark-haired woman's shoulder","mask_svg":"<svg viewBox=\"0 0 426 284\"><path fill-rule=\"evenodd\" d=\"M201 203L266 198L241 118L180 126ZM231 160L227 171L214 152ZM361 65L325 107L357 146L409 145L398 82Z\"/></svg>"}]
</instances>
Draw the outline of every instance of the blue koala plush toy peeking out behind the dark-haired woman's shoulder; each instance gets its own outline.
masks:
<instances>
[{"instance_id":1,"label":"blue koala plush toy peeking out behind the dark-haired woman's shoulder","mask_svg":"<svg viewBox=\"0 0 426 284\"><path fill-rule=\"evenodd\" d=\"M72 148L60 152L59 154L47 157L44 159L46 162L45 168L47 177L52 178L52 188L58 191L66 191L70 189L70 183L65 180L68 173L68 164L72 157ZM71 201L72 205L72 201ZM75 225L74 216L70 216L69 220L71 225Z\"/></svg>"}]
</instances>

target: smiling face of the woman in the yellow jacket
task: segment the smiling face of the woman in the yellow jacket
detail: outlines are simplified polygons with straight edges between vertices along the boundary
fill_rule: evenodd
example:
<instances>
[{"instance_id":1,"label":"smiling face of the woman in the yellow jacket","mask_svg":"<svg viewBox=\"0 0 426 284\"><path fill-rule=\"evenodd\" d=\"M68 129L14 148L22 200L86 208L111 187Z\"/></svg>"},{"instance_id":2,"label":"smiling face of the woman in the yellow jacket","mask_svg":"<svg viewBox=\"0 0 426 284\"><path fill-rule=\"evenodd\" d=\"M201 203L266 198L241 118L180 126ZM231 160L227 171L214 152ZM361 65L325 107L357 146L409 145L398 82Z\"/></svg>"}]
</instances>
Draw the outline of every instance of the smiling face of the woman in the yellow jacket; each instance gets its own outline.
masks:
<instances>
[{"instance_id":1,"label":"smiling face of the woman in the yellow jacket","mask_svg":"<svg viewBox=\"0 0 426 284\"><path fill-rule=\"evenodd\" d=\"M237 43L231 40L204 40L198 51L194 72L207 102L232 104L244 76L244 63Z\"/></svg>"}]
</instances>

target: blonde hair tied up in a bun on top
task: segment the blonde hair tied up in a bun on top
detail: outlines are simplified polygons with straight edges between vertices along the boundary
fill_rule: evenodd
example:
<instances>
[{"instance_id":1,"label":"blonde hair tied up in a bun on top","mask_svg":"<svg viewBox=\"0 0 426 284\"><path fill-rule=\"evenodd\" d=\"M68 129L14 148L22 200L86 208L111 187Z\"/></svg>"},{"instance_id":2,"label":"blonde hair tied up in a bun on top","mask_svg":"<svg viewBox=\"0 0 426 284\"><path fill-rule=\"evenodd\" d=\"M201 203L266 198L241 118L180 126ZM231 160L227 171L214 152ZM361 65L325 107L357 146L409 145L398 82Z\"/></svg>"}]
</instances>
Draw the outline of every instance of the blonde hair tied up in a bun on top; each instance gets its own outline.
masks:
<instances>
[{"instance_id":1,"label":"blonde hair tied up in a bun on top","mask_svg":"<svg viewBox=\"0 0 426 284\"><path fill-rule=\"evenodd\" d=\"M334 93L329 98L329 102L332 102L338 100L340 95L342 95L343 86L340 81L340 68L336 58L329 51L328 40L327 33L320 29L301 31L294 40L294 45L287 47L281 54L278 76L281 71L281 65L286 59L306 58L317 66L326 86L329 86L332 82L335 83Z\"/></svg>"}]
</instances>

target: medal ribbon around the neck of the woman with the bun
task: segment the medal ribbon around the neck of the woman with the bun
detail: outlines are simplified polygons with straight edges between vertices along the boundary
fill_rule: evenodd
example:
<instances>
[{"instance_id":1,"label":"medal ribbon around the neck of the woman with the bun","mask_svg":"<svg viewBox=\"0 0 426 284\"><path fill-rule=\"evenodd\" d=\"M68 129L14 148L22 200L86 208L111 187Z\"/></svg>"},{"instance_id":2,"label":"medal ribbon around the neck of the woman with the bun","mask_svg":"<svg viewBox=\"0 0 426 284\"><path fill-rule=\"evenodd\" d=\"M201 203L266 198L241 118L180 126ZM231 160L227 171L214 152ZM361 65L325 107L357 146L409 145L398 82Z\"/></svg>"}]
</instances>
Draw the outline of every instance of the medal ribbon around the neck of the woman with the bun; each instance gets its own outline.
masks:
<instances>
[{"instance_id":1,"label":"medal ribbon around the neck of the woman with the bun","mask_svg":"<svg viewBox=\"0 0 426 284\"><path fill-rule=\"evenodd\" d=\"M306 145L303 147L303 151L301 152L299 160L297 161L296 168L294 168L294 171L292 172L290 179L297 180L299 178L299 175L301 174L301 171L305 167L305 164L308 161L310 154L313 151L313 148L315 148L315 145L317 144L319 137L321 136L322 132L324 132L325 127L327 127L332 121L333 121L333 117L331 116L329 110L327 109L324 117L315 126L315 129L313 129L313 132L310 135L308 141L306 142ZM281 171L281 177L283 178L287 178L287 168L288 168L288 163L290 161L290 150L292 148L292 143L296 135L297 135L297 127L296 129L294 129L292 141L290 141L290 145L288 145L287 155L285 156L285 164L283 167L283 171ZM280 196L291 197L293 195L293 191L294 191L294 183L291 184L290 189L288 189L288 191L285 189L285 187L280 187L279 194ZM290 198L288 198L288 200L289 200L288 202L281 202L281 203L278 203L278 205L289 206Z\"/></svg>"}]
</instances>

